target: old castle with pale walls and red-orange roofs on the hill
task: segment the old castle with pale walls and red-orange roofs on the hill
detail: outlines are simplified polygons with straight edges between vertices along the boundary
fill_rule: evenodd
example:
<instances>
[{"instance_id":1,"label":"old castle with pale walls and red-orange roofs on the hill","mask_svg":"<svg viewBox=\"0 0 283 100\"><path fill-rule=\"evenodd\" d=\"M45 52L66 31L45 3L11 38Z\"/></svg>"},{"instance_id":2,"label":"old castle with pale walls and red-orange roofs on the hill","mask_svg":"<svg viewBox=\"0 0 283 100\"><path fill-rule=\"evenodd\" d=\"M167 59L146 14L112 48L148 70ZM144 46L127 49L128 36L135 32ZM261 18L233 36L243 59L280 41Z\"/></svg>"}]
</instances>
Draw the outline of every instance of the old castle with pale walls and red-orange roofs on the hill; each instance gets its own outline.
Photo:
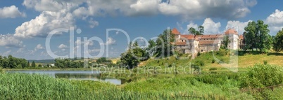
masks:
<instances>
[{"instance_id":1,"label":"old castle with pale walls and red-orange roofs on the hill","mask_svg":"<svg viewBox=\"0 0 283 100\"><path fill-rule=\"evenodd\" d=\"M225 36L228 36L230 41L227 45L229 50L238 50L244 46L244 36L239 35L234 29L228 29L223 34L194 35L180 34L174 28L172 34L175 36L175 50L180 53L196 54L198 52L218 51Z\"/></svg>"}]
</instances>

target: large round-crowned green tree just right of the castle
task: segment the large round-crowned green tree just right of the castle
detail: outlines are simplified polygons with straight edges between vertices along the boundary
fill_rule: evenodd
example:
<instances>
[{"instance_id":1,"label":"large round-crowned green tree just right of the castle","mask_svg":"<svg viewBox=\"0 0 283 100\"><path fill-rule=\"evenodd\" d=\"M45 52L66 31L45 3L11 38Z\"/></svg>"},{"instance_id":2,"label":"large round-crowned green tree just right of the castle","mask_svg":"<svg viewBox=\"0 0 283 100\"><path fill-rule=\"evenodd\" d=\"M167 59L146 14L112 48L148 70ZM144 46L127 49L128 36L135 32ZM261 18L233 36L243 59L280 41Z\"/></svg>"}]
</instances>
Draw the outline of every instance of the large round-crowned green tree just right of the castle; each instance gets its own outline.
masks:
<instances>
[{"instance_id":1,"label":"large round-crowned green tree just right of the castle","mask_svg":"<svg viewBox=\"0 0 283 100\"><path fill-rule=\"evenodd\" d=\"M260 52L270 50L272 38L268 34L268 24L264 24L263 20L258 22L249 22L245 27L244 41L246 43L245 50L251 49L260 50Z\"/></svg>"}]
</instances>

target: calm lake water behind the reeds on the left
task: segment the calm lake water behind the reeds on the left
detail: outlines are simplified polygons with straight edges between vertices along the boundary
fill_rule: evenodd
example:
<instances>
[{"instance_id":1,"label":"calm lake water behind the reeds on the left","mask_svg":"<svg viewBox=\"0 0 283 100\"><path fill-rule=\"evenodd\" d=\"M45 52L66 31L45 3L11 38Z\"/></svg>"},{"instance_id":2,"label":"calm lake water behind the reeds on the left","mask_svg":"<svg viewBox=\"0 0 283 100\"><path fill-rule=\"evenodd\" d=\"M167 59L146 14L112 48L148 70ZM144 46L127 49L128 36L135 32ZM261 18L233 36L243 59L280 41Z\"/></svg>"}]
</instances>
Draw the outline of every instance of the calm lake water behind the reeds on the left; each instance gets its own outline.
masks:
<instances>
[{"instance_id":1,"label":"calm lake water behind the reeds on the left","mask_svg":"<svg viewBox=\"0 0 283 100\"><path fill-rule=\"evenodd\" d=\"M8 73L45 74L53 78L68 78L70 80L95 80L121 85L122 80L101 78L97 71L8 71Z\"/></svg>"}]
</instances>

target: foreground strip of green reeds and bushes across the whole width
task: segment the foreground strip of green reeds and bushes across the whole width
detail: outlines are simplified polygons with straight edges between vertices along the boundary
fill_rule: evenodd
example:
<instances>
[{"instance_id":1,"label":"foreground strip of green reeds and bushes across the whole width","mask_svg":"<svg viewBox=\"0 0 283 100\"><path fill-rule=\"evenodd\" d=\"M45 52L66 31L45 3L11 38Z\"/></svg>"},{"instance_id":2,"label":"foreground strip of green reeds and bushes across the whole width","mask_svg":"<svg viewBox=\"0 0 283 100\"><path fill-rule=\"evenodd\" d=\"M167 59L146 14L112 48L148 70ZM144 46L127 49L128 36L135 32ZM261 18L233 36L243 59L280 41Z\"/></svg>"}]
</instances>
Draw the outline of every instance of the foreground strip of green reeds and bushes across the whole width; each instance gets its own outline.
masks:
<instances>
[{"instance_id":1,"label":"foreground strip of green reeds and bushes across the whole width","mask_svg":"<svg viewBox=\"0 0 283 100\"><path fill-rule=\"evenodd\" d=\"M242 73L207 72L193 75L132 74L132 78L136 79L122 85L2 71L0 97L1 99L283 99L282 86L273 90L264 88L282 84L282 66L256 64L246 70ZM257 88L263 89L255 90Z\"/></svg>"}]
</instances>

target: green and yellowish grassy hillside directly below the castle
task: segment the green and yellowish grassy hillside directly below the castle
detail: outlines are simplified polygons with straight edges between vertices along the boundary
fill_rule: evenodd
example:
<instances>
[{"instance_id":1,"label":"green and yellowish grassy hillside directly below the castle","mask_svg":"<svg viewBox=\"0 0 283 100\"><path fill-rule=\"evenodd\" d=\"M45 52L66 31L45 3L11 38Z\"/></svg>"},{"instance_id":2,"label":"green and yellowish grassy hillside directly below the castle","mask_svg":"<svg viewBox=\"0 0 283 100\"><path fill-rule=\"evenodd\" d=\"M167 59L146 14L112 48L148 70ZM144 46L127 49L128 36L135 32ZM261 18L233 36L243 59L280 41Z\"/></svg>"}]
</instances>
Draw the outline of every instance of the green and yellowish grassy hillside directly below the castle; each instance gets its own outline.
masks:
<instances>
[{"instance_id":1,"label":"green and yellowish grassy hillside directly below the castle","mask_svg":"<svg viewBox=\"0 0 283 100\"><path fill-rule=\"evenodd\" d=\"M217 62L219 59L227 64L235 62L239 69L244 69L248 66L253 66L254 64L263 64L267 62L268 64L283 65L283 52L275 53L259 53L259 52L238 52L239 55L223 55L225 52L205 52L201 53L195 59L191 59L190 55L184 54L180 57L187 57L187 59L177 59L172 56L163 59L149 59L145 62L141 62L139 66L188 66L189 64L196 64L203 66L203 68L210 69L213 67L221 68L222 65ZM227 53L227 52L226 52ZM232 58L231 58L232 57ZM213 61L214 60L214 61ZM238 61L238 62L237 62ZM213 63L214 62L214 63Z\"/></svg>"}]
</instances>

